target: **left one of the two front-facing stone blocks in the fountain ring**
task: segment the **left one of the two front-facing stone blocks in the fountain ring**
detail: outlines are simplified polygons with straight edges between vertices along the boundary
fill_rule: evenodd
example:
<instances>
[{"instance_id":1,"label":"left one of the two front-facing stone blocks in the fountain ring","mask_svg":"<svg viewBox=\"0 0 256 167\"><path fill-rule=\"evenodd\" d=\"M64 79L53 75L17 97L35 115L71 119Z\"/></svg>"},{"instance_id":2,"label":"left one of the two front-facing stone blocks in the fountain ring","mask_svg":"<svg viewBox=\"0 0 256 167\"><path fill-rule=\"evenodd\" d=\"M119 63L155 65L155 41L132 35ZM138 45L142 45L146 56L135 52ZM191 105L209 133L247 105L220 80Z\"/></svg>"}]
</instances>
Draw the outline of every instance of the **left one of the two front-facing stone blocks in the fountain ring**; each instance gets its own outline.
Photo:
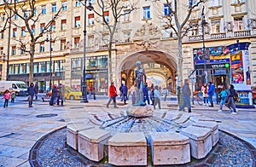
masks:
<instances>
[{"instance_id":1,"label":"left one of the two front-facing stone blocks in the fountain ring","mask_svg":"<svg viewBox=\"0 0 256 167\"><path fill-rule=\"evenodd\" d=\"M108 141L108 163L147 165L147 141L143 133L119 133Z\"/></svg>"}]
</instances>

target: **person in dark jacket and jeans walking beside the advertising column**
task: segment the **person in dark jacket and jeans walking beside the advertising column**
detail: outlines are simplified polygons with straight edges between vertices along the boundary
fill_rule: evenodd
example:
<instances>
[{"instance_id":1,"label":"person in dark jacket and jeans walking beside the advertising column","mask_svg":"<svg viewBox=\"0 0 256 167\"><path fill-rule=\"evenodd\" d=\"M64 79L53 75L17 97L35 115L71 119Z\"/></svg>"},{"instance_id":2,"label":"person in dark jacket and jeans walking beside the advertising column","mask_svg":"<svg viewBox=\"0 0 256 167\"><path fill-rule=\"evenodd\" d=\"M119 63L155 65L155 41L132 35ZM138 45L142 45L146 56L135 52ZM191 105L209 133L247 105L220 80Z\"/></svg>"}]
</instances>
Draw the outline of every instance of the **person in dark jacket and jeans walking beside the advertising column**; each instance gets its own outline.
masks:
<instances>
[{"instance_id":1,"label":"person in dark jacket and jeans walking beside the advertising column","mask_svg":"<svg viewBox=\"0 0 256 167\"><path fill-rule=\"evenodd\" d=\"M226 99L225 106L230 108L230 113L236 114L236 105L234 97L237 95L236 89L234 89L234 85L230 84L230 89L228 91L228 97Z\"/></svg>"}]
</instances>

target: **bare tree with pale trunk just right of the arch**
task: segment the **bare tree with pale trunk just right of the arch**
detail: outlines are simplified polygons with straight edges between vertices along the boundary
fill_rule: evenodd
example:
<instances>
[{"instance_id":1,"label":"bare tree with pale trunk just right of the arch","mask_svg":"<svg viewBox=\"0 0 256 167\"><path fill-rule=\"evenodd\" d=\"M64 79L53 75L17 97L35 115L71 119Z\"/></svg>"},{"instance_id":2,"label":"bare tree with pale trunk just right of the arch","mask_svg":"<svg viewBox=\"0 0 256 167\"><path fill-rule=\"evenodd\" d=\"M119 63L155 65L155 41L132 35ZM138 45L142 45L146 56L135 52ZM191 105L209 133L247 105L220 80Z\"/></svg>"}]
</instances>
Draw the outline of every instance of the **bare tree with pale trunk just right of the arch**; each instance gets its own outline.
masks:
<instances>
[{"instance_id":1,"label":"bare tree with pale trunk just right of the arch","mask_svg":"<svg viewBox=\"0 0 256 167\"><path fill-rule=\"evenodd\" d=\"M205 3L205 0L188 0L185 1L166 0L168 5L168 14L163 17L163 20L168 28L177 36L177 82L183 82L183 37L189 32L189 30L195 26L198 26L197 22L189 22L193 9L198 7L201 3ZM184 15L184 12L185 15ZM181 14L183 12L183 14Z\"/></svg>"}]
</instances>

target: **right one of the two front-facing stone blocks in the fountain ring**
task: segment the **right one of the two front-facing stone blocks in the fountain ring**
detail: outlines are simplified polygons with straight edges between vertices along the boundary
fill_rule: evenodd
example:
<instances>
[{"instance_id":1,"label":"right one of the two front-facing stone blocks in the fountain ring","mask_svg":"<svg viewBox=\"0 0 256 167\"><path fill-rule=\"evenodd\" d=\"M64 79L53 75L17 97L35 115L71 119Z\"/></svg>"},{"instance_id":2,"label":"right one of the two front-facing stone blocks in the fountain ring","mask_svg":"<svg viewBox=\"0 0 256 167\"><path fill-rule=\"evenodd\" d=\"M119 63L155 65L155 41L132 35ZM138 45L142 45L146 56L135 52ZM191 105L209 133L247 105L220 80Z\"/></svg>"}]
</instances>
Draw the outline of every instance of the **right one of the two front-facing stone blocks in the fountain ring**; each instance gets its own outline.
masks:
<instances>
[{"instance_id":1,"label":"right one of the two front-facing stone blocks in the fountain ring","mask_svg":"<svg viewBox=\"0 0 256 167\"><path fill-rule=\"evenodd\" d=\"M151 134L154 165L186 164L190 162L189 137L177 133Z\"/></svg>"}]
</instances>

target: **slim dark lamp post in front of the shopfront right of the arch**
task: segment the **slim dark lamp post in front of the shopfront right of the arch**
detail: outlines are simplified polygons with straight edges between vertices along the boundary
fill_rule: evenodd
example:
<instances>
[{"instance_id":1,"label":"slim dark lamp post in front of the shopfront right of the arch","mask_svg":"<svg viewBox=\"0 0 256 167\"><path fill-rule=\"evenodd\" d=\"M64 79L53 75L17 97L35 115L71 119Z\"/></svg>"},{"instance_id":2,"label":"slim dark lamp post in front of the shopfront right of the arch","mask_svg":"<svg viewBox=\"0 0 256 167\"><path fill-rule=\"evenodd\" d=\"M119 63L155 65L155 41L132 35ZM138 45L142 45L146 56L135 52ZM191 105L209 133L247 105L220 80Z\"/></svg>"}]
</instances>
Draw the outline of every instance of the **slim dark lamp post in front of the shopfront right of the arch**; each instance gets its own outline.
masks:
<instances>
[{"instance_id":1,"label":"slim dark lamp post in front of the shopfront right of the arch","mask_svg":"<svg viewBox=\"0 0 256 167\"><path fill-rule=\"evenodd\" d=\"M205 59L204 63L204 76L205 83L207 83L207 56L206 56L206 44L205 44L205 26L207 25L207 21L204 13L205 6L203 6L201 11L201 33L202 33L202 41L203 41L203 58Z\"/></svg>"}]
</instances>

